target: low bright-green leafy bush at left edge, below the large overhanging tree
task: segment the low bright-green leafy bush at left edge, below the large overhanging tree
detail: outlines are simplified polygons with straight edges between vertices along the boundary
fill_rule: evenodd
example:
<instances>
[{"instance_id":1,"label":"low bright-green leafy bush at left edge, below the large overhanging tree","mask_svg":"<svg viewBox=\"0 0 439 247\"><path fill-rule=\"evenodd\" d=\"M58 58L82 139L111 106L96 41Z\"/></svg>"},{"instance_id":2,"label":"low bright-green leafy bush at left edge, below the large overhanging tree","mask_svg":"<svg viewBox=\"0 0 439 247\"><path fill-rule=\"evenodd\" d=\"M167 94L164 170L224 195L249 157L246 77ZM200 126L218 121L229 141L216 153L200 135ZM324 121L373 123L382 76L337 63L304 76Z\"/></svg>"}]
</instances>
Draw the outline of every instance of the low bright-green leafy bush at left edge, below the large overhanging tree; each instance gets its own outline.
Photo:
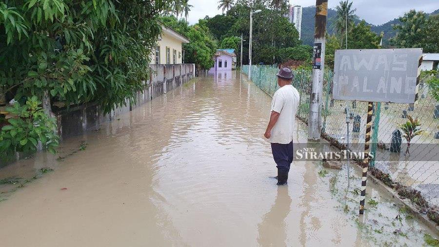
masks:
<instances>
[{"instance_id":1,"label":"low bright-green leafy bush at left edge, below the large overhanging tree","mask_svg":"<svg viewBox=\"0 0 439 247\"><path fill-rule=\"evenodd\" d=\"M8 119L8 125L0 131L0 154L2 157L11 157L13 152L35 152L38 141L43 148L55 154L59 144L59 137L55 134L55 118L49 118L40 107L41 102L36 96L29 98L21 106L15 103L7 107L7 111L17 117Z\"/></svg>"}]
</instances>

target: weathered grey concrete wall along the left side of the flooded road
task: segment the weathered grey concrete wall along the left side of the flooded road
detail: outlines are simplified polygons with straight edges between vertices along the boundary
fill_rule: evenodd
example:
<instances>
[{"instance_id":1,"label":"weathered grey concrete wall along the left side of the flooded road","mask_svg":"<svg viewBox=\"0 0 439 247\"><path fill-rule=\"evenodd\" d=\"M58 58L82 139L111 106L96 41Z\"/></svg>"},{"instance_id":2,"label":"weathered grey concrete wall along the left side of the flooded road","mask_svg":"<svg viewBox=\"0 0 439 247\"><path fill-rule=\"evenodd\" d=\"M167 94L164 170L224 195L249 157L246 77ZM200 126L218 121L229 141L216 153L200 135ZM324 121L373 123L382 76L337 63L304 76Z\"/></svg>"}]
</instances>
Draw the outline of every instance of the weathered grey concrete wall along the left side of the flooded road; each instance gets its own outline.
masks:
<instances>
[{"instance_id":1,"label":"weathered grey concrete wall along the left side of the flooded road","mask_svg":"<svg viewBox=\"0 0 439 247\"><path fill-rule=\"evenodd\" d=\"M149 80L143 82L146 89L137 93L135 103L127 101L125 106L116 108L108 114L103 114L97 103L87 103L56 113L61 139L99 128L101 123L112 120L120 113L130 111L195 77L193 63L151 64L150 69L153 72Z\"/></svg>"}]
</instances>

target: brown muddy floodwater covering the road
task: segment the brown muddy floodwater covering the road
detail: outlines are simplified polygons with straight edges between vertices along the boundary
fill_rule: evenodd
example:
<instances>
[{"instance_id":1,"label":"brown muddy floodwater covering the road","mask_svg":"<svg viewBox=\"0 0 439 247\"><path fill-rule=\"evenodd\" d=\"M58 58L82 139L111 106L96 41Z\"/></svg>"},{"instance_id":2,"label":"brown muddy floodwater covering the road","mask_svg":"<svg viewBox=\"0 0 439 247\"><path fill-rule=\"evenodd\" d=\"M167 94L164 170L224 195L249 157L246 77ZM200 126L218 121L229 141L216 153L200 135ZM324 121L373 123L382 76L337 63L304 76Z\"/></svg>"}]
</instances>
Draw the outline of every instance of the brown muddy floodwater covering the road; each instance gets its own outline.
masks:
<instances>
[{"instance_id":1,"label":"brown muddy floodwater covering the road","mask_svg":"<svg viewBox=\"0 0 439 247\"><path fill-rule=\"evenodd\" d=\"M316 162L294 162L278 187L262 137L270 101L235 72L197 78L65 140L63 159L38 153L0 169L19 181L0 187L0 246L422 246L435 236L373 185L359 218L354 168L347 194L345 170Z\"/></svg>"}]
</instances>

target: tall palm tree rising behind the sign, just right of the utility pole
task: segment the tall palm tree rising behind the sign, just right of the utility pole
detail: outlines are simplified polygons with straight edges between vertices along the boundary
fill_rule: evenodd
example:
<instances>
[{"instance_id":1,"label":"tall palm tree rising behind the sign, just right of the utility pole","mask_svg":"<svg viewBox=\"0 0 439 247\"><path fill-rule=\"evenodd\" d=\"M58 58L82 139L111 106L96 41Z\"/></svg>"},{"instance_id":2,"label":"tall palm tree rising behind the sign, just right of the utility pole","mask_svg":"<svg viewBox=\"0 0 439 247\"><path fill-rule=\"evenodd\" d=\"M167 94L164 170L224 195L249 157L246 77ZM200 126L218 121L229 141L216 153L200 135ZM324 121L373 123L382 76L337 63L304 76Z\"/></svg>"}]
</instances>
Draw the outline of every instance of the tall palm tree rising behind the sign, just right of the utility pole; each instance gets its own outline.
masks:
<instances>
[{"instance_id":1,"label":"tall palm tree rising behind the sign, just right of the utility pole","mask_svg":"<svg viewBox=\"0 0 439 247\"><path fill-rule=\"evenodd\" d=\"M347 32L349 32L354 26L354 20L358 17L355 15L357 9L352 8L352 1L344 0L339 2L339 6L336 7L337 15L334 21L334 32L340 36L340 47L343 47L343 37L346 34L346 19L347 19ZM347 17L347 18L346 18Z\"/></svg>"}]
</instances>

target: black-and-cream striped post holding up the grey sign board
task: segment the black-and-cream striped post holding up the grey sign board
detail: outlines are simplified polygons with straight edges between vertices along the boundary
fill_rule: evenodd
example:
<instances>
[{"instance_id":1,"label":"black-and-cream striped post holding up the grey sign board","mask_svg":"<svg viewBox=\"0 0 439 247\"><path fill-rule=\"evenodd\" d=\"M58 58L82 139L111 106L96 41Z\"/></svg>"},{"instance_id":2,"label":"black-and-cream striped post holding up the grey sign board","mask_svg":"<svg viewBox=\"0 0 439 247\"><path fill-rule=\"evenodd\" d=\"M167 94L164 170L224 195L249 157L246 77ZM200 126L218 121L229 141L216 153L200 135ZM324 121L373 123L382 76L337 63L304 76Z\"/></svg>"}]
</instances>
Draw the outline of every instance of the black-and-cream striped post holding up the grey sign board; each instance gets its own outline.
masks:
<instances>
[{"instance_id":1,"label":"black-and-cream striped post holding up the grey sign board","mask_svg":"<svg viewBox=\"0 0 439 247\"><path fill-rule=\"evenodd\" d=\"M367 168L369 167L369 151L370 151L370 136L372 135L372 108L373 103L369 102L367 107L367 123L366 123L366 139L364 142L364 161L363 161L363 175L361 178L361 196L360 196L360 210L359 214L364 213L364 200L366 199L366 180Z\"/></svg>"}]
</instances>

